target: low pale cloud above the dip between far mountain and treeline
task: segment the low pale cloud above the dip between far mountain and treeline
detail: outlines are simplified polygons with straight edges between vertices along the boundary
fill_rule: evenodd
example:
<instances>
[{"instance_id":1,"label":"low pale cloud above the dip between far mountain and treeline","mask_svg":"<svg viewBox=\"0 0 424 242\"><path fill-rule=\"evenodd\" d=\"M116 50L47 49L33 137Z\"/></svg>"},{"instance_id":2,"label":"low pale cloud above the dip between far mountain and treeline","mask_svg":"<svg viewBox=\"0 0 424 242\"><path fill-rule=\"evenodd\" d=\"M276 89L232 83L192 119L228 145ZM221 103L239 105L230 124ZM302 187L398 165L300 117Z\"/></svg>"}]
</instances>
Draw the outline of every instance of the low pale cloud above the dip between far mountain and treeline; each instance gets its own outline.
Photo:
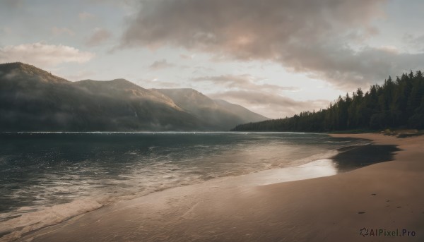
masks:
<instances>
[{"instance_id":1,"label":"low pale cloud above the dip between far mountain and treeline","mask_svg":"<svg viewBox=\"0 0 424 242\"><path fill-rule=\"evenodd\" d=\"M208 94L213 99L225 99L228 102L249 107L250 110L271 119L283 118L299 114L300 111L319 110L329 104L327 100L295 101L289 97L271 92L254 90L232 90Z\"/></svg>"}]
</instances>

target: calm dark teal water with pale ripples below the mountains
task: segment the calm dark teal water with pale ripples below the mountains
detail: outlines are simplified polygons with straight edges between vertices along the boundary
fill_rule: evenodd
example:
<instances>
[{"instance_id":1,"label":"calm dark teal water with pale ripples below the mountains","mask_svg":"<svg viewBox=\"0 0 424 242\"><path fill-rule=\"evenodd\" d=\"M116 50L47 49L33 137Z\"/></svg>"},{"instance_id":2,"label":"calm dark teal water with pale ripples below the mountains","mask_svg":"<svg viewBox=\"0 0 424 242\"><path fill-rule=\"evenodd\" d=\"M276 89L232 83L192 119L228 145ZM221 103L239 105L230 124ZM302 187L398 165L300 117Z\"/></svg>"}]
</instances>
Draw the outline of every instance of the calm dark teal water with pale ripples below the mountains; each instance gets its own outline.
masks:
<instances>
[{"instance_id":1,"label":"calm dark teal water with pale ripples below the mountains","mask_svg":"<svg viewBox=\"0 0 424 242\"><path fill-rule=\"evenodd\" d=\"M3 133L0 222L81 199L294 167L363 141L312 133Z\"/></svg>"}]
</instances>

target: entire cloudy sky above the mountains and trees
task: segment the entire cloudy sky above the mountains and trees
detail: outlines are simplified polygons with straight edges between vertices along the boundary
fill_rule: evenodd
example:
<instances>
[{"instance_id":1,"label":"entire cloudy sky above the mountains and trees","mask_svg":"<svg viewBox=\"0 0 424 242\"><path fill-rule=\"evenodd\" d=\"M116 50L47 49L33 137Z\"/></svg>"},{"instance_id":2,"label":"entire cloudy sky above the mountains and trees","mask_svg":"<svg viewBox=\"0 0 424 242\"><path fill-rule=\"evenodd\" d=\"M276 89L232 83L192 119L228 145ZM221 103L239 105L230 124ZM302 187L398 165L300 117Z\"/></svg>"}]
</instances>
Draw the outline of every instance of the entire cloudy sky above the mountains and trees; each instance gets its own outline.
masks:
<instances>
[{"instance_id":1,"label":"entire cloudy sky above the mountains and trees","mask_svg":"<svg viewBox=\"0 0 424 242\"><path fill-rule=\"evenodd\" d=\"M0 63L193 88L272 119L424 71L420 0L1 0Z\"/></svg>"}]
</instances>

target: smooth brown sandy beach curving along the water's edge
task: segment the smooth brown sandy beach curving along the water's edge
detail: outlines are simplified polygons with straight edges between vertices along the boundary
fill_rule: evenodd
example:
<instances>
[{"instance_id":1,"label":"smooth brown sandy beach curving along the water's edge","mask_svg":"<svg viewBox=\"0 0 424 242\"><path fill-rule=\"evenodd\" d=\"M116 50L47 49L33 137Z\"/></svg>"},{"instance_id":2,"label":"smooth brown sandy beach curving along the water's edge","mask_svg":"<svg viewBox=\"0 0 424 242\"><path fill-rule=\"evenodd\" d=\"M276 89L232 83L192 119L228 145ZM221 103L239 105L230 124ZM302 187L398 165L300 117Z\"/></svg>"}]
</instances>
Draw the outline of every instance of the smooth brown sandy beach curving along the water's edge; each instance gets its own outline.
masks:
<instances>
[{"instance_id":1,"label":"smooth brown sandy beach curving along the water's edge","mask_svg":"<svg viewBox=\"0 0 424 242\"><path fill-rule=\"evenodd\" d=\"M424 136L334 136L400 150L334 176L290 181L270 170L163 190L18 241L423 241Z\"/></svg>"}]
</instances>

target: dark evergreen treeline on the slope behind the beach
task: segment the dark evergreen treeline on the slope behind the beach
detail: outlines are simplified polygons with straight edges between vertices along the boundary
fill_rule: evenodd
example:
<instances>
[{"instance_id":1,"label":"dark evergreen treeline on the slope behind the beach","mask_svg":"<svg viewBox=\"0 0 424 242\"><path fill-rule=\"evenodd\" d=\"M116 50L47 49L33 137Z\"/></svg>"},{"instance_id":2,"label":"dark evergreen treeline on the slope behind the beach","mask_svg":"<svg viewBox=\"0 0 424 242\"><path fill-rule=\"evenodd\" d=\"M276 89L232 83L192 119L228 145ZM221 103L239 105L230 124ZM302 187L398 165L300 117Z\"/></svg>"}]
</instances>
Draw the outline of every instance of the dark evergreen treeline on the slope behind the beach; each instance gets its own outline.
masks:
<instances>
[{"instance_id":1,"label":"dark evergreen treeline on the slope behind the beach","mask_svg":"<svg viewBox=\"0 0 424 242\"><path fill-rule=\"evenodd\" d=\"M391 77L383 85L339 96L326 109L293 117L236 126L232 131L343 131L424 128L424 78L421 71Z\"/></svg>"}]
</instances>

